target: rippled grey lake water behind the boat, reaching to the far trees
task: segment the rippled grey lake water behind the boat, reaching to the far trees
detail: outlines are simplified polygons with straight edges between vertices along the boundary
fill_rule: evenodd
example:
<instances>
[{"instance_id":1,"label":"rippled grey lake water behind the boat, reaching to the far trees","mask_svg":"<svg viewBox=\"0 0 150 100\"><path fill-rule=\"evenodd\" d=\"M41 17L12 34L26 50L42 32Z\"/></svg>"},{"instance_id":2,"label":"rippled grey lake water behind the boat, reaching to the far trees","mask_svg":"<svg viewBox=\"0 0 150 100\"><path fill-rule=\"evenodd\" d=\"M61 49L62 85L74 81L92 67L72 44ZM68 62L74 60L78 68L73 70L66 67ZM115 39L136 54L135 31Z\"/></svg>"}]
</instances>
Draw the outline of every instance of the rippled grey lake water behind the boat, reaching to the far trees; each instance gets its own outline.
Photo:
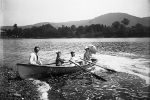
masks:
<instances>
[{"instance_id":1,"label":"rippled grey lake water behind the boat, reaching to the far trees","mask_svg":"<svg viewBox=\"0 0 150 100\"><path fill-rule=\"evenodd\" d=\"M70 51L83 54L86 45L97 46L98 53L129 53L136 56L149 57L149 38L98 38L98 39L1 39L0 65L15 66L19 62L27 62L29 54L35 46L41 48L40 58L51 62L58 50L63 56L70 56ZM82 55L81 55L82 56Z\"/></svg>"}]
</instances>

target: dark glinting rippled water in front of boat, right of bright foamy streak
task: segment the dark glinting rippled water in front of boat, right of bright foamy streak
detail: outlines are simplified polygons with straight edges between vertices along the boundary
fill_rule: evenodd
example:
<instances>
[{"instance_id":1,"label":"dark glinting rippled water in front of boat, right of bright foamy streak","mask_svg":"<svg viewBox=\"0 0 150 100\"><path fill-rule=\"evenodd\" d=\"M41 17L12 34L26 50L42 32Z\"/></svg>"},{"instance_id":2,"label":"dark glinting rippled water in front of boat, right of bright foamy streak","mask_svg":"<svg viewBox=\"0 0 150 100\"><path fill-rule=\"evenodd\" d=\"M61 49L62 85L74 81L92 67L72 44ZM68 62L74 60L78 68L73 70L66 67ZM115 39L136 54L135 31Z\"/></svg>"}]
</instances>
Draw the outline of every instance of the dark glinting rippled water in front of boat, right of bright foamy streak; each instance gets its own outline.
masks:
<instances>
[{"instance_id":1,"label":"dark glinting rippled water in front of boat, right of bright foamy streak","mask_svg":"<svg viewBox=\"0 0 150 100\"><path fill-rule=\"evenodd\" d=\"M139 100L149 99L149 86L141 78L127 73L100 73L107 82L89 73L51 77L49 100Z\"/></svg>"}]
</instances>

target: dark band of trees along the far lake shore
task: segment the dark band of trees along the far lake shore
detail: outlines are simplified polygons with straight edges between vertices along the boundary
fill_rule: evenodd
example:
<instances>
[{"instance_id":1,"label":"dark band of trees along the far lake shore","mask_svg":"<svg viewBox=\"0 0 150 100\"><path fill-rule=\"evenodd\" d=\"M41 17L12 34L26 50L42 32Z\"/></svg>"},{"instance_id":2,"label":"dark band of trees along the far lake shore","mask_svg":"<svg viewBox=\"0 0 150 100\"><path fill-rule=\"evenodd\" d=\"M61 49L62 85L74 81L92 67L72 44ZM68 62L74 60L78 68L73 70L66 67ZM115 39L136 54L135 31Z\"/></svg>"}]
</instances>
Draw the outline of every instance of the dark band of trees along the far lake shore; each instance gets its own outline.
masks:
<instances>
[{"instance_id":1,"label":"dark band of trees along the far lake shore","mask_svg":"<svg viewBox=\"0 0 150 100\"><path fill-rule=\"evenodd\" d=\"M2 29L2 38L126 38L126 37L149 37L150 26L137 23L128 27L130 21L124 18L121 22L115 21L111 26L92 24L89 26L62 25L55 28L50 24L32 28L19 28L17 24L13 29Z\"/></svg>"}]
</instances>

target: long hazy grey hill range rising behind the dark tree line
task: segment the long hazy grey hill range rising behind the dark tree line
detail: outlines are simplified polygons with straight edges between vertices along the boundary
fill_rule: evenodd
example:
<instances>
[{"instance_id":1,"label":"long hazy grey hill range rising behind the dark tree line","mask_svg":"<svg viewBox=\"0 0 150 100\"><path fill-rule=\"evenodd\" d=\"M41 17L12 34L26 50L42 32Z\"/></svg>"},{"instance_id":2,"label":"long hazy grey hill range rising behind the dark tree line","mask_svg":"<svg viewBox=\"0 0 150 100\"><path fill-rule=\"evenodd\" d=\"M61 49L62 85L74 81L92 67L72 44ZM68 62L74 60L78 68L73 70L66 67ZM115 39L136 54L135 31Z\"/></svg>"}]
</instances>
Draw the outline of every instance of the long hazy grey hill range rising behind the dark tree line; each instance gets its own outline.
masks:
<instances>
[{"instance_id":1,"label":"long hazy grey hill range rising behind the dark tree line","mask_svg":"<svg viewBox=\"0 0 150 100\"><path fill-rule=\"evenodd\" d=\"M58 28L61 27L62 25L65 26L71 26L75 25L76 27L82 25L91 25L91 24L103 24L106 26L111 26L113 22L115 21L122 21L124 18L129 19L130 24L128 25L129 27L136 25L137 23L142 24L143 26L149 26L150 25L150 17L135 17L126 13L108 13L105 15L101 15L98 17L95 17L93 19L89 20L81 20L81 21L70 21L70 22L61 22L61 23L52 23L52 22L41 22L33 25L27 25L27 26L20 26L21 28L31 28L33 26L42 26L45 24L51 24L52 26ZM13 29L12 26L3 26L2 29Z\"/></svg>"}]
</instances>

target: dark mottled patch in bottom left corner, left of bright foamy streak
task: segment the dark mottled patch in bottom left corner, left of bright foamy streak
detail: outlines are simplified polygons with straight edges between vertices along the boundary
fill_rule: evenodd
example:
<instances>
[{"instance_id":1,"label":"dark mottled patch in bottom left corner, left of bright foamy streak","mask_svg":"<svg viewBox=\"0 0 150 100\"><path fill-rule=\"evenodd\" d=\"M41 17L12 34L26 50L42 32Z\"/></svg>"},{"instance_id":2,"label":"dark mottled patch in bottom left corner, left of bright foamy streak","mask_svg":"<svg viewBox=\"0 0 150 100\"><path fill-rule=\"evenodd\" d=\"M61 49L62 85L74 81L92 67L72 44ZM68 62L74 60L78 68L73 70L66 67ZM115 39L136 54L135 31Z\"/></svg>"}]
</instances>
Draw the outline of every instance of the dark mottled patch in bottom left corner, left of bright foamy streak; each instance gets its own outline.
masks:
<instances>
[{"instance_id":1,"label":"dark mottled patch in bottom left corner, left of bright foamy streak","mask_svg":"<svg viewBox=\"0 0 150 100\"><path fill-rule=\"evenodd\" d=\"M39 100L37 86L32 80L21 80L17 72L0 67L0 98L2 100Z\"/></svg>"}]
</instances>

